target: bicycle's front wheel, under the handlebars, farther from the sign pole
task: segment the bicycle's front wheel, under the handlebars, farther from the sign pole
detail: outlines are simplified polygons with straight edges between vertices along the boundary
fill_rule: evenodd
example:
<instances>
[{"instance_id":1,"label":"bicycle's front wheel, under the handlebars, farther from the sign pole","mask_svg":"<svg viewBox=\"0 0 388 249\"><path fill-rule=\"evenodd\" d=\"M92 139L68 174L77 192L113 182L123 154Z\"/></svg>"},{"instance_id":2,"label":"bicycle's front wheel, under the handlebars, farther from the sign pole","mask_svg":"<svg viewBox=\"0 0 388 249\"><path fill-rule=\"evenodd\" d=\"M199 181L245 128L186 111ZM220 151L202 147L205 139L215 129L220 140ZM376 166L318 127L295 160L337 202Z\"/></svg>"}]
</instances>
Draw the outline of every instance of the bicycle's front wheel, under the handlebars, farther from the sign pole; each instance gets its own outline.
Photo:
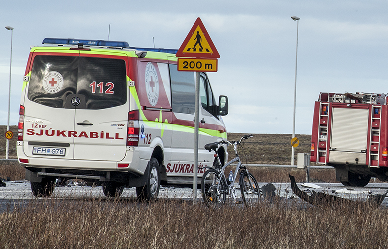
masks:
<instances>
[{"instance_id":1,"label":"bicycle's front wheel, under the handlebars, farther from the sign pole","mask_svg":"<svg viewBox=\"0 0 388 249\"><path fill-rule=\"evenodd\" d=\"M240 191L244 204L257 203L261 198L255 177L251 173L248 174L245 170L240 176Z\"/></svg>"}]
</instances>

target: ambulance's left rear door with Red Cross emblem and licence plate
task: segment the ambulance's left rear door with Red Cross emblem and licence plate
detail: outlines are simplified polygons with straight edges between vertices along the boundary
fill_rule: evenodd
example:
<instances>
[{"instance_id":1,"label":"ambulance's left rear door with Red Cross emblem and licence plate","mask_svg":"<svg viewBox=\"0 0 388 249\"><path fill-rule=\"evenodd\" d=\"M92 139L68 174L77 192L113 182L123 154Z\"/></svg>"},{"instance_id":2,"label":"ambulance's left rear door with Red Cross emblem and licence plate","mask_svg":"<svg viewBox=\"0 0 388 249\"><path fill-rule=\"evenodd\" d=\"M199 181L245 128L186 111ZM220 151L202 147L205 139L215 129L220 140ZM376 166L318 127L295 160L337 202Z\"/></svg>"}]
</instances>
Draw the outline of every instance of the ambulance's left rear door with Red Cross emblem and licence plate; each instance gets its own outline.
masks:
<instances>
[{"instance_id":1,"label":"ambulance's left rear door with Red Cross emblem and licence plate","mask_svg":"<svg viewBox=\"0 0 388 249\"><path fill-rule=\"evenodd\" d=\"M76 93L79 51L58 52L38 48L32 55L24 100L23 149L29 157L73 159L75 109L69 96Z\"/></svg>"}]
</instances>

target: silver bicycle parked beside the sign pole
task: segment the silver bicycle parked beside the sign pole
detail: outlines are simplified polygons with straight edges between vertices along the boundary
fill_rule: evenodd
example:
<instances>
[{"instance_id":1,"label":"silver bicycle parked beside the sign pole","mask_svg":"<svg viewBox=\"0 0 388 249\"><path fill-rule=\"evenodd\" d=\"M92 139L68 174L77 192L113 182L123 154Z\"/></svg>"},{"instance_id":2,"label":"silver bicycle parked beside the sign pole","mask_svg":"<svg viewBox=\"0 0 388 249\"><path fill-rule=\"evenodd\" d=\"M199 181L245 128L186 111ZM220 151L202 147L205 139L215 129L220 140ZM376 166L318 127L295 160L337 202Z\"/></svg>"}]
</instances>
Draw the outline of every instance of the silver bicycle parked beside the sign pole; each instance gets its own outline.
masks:
<instances>
[{"instance_id":1,"label":"silver bicycle parked beside the sign pole","mask_svg":"<svg viewBox=\"0 0 388 249\"><path fill-rule=\"evenodd\" d=\"M249 203L258 202L261 199L260 189L255 177L251 173L249 173L247 167L242 166L240 157L237 152L237 146L241 145L242 141L250 137L253 137L252 134L242 136L240 141L229 142L227 140L223 140L205 145L205 149L207 149L209 152L215 152L215 157L217 158L215 162L218 162L218 164L214 163L215 167L203 167L206 169L206 171L202 176L201 191L202 198L207 206L222 206L226 202L226 195L229 195L233 199L234 203L240 203L240 201L237 201L237 193L235 187L235 182L238 173L240 173L238 185L240 186L242 203L246 205ZM224 166L221 166L222 164L218 157L218 144L232 145L236 154L236 157L226 163ZM227 179L225 176L225 168L235 162L237 162L237 166L233 174L233 178Z\"/></svg>"}]
</instances>

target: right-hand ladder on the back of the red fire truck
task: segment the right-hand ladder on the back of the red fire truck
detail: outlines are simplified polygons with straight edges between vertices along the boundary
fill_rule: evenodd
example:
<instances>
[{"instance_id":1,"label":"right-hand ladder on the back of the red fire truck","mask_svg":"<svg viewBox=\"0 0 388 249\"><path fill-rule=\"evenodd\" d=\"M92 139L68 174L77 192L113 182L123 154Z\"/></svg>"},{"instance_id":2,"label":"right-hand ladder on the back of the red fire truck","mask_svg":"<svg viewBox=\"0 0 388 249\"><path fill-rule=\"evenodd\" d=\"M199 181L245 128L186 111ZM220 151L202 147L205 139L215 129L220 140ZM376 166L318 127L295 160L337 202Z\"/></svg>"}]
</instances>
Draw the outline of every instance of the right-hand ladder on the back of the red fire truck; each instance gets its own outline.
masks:
<instances>
[{"instance_id":1,"label":"right-hand ladder on the back of the red fire truck","mask_svg":"<svg viewBox=\"0 0 388 249\"><path fill-rule=\"evenodd\" d=\"M375 108L381 110L381 106L372 105L372 115L371 115L371 131L370 131L370 153L369 153L369 167L370 168L379 168L380 162L380 125L381 125L381 115L380 111L375 113Z\"/></svg>"}]
</instances>

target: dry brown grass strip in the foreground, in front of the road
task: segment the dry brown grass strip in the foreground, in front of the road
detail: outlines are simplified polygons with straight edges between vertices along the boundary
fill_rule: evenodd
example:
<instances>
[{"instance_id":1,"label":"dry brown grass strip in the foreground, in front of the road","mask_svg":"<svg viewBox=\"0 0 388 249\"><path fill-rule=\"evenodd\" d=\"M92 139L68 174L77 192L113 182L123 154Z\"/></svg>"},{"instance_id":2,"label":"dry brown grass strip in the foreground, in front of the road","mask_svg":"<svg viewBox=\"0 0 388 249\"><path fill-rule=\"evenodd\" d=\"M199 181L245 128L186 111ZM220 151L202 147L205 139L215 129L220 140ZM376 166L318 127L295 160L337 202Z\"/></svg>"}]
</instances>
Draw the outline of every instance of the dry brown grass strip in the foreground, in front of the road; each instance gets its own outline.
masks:
<instances>
[{"instance_id":1,"label":"dry brown grass strip in the foreground, in front of the road","mask_svg":"<svg viewBox=\"0 0 388 249\"><path fill-rule=\"evenodd\" d=\"M243 214L243 215L242 215ZM388 210L367 204L32 200L0 214L1 248L388 248ZM382 236L383 235L383 236Z\"/></svg>"}]
</instances>

